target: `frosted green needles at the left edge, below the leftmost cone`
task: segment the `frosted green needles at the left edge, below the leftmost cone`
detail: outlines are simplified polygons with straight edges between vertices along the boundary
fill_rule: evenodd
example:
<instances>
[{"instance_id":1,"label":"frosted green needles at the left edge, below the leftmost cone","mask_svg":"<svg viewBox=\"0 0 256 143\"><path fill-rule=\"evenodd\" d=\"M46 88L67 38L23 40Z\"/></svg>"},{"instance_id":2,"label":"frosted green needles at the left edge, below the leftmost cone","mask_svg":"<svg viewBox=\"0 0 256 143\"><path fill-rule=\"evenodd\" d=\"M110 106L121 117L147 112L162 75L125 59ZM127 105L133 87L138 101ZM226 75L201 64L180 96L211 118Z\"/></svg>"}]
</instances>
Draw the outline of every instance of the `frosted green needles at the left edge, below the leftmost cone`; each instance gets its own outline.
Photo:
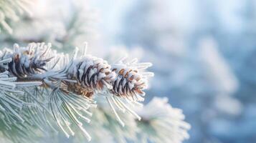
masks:
<instances>
[{"instance_id":1,"label":"frosted green needles at the left edge, below the leftmost cone","mask_svg":"<svg viewBox=\"0 0 256 143\"><path fill-rule=\"evenodd\" d=\"M0 67L6 66L11 59L1 59ZM9 71L0 72L0 133L13 142L27 142L32 137L27 139L32 130L28 127L27 118L20 114L24 102L20 97L24 95L24 91L19 90L19 87L27 87L41 84L40 82L16 82L16 77L10 77Z\"/></svg>"}]
</instances>

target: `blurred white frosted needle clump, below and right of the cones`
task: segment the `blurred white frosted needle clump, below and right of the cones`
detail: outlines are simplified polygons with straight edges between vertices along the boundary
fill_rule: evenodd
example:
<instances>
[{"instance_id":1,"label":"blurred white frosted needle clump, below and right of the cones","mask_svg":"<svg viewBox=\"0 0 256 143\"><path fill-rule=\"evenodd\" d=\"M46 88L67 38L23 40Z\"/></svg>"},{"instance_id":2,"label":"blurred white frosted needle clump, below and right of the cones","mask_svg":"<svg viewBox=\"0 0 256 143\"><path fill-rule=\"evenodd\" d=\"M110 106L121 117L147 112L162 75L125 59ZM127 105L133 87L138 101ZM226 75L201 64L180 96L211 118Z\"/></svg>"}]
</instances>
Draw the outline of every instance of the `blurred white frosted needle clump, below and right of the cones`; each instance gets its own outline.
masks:
<instances>
[{"instance_id":1,"label":"blurred white frosted needle clump, below and right of the cones","mask_svg":"<svg viewBox=\"0 0 256 143\"><path fill-rule=\"evenodd\" d=\"M138 142L181 143L189 139L190 124L184 122L181 109L168 104L167 98L154 97L142 109L137 109L141 116L138 127L141 129Z\"/></svg>"}]
</instances>

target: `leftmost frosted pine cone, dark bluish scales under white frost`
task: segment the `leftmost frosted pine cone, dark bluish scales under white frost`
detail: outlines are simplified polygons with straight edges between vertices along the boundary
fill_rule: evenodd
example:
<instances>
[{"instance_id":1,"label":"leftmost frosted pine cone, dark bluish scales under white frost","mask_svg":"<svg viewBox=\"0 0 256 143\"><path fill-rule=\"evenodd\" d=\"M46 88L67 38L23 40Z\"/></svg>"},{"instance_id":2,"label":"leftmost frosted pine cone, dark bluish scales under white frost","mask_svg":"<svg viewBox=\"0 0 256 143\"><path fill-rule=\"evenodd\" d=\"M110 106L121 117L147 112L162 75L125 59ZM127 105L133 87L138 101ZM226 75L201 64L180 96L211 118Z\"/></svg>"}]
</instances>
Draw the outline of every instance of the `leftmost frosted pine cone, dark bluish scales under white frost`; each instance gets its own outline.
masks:
<instances>
[{"instance_id":1,"label":"leftmost frosted pine cone, dark bluish scales under white frost","mask_svg":"<svg viewBox=\"0 0 256 143\"><path fill-rule=\"evenodd\" d=\"M26 47L19 47L18 44L14 44L13 51L4 51L1 59L11 58L9 62L9 71L14 74L15 77L24 78L32 74L41 73L46 71L44 66L52 59L48 57L50 51L50 44L29 44Z\"/></svg>"}]
</instances>

